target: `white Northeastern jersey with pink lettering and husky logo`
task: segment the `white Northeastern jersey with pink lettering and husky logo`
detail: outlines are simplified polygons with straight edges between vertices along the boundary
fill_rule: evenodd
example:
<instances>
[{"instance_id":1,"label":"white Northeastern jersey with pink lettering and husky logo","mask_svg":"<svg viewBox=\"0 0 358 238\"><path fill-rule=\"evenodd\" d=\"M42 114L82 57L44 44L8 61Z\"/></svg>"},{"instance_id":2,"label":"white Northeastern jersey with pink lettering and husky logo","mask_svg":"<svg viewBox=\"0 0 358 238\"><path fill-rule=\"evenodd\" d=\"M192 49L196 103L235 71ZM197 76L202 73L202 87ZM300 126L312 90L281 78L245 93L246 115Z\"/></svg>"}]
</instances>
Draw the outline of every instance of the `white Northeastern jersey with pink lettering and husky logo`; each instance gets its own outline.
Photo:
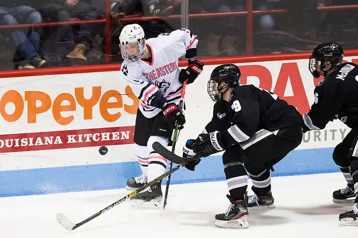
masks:
<instances>
[{"instance_id":1,"label":"white Northeastern jersey with pink lettering and husky logo","mask_svg":"<svg viewBox=\"0 0 358 238\"><path fill-rule=\"evenodd\" d=\"M155 107L155 100L152 101L158 94L167 103L179 102L182 83L178 80L178 59L188 49L196 48L197 42L196 35L188 29L164 33L146 40L152 56L150 63L144 60L122 63L122 75L140 100L139 109L145 117L151 118L161 112L161 108Z\"/></svg>"}]
</instances>

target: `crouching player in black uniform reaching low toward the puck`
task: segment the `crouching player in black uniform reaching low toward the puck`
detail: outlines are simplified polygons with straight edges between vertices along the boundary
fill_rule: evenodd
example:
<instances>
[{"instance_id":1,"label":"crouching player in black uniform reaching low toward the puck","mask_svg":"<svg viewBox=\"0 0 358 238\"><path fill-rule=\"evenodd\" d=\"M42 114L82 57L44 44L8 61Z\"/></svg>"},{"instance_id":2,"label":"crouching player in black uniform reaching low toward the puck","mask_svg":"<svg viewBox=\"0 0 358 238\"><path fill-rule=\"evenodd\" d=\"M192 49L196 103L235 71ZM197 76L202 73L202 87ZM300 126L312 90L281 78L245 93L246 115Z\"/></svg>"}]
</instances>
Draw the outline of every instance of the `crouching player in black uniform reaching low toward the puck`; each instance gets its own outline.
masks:
<instances>
[{"instance_id":1,"label":"crouching player in black uniform reaching low toward the puck","mask_svg":"<svg viewBox=\"0 0 358 238\"><path fill-rule=\"evenodd\" d=\"M270 169L302 141L302 119L296 108L272 92L240 85L240 78L234 64L213 70L208 82L208 93L216 102L212 121L183 148L184 157L207 157L225 150L222 162L231 205L215 216L220 227L248 227L248 207L275 207ZM194 171L199 162L192 161L186 168ZM254 191L249 197L248 174Z\"/></svg>"}]
</instances>

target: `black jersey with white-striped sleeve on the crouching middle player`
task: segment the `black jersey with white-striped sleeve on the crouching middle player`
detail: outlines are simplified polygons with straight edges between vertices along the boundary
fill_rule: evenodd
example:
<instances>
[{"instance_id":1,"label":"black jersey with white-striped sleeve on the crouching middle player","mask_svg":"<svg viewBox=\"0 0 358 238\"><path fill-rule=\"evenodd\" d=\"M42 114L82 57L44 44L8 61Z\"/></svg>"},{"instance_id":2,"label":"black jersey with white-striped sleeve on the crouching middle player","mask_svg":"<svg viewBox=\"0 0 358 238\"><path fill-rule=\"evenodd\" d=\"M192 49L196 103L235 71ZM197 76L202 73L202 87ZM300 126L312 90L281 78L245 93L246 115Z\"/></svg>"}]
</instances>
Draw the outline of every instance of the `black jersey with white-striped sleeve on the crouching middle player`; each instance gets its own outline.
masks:
<instances>
[{"instance_id":1,"label":"black jersey with white-striped sleeve on the crouching middle player","mask_svg":"<svg viewBox=\"0 0 358 238\"><path fill-rule=\"evenodd\" d=\"M225 146L243 142L265 129L275 134L302 121L295 107L270 91L254 85L236 86L229 102L214 105L214 114L204 132L219 131Z\"/></svg>"}]
</instances>

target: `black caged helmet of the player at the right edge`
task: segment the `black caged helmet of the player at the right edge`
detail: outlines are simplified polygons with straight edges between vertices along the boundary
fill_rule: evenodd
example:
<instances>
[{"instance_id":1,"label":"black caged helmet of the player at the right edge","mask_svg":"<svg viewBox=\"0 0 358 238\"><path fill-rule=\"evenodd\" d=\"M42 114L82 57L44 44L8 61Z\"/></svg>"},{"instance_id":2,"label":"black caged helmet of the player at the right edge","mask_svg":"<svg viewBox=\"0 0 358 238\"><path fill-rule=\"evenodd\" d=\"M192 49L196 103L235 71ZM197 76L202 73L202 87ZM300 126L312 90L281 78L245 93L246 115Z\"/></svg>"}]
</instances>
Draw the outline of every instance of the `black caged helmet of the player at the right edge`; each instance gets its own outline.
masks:
<instances>
[{"instance_id":1,"label":"black caged helmet of the player at the right edge","mask_svg":"<svg viewBox=\"0 0 358 238\"><path fill-rule=\"evenodd\" d=\"M340 44L335 42L325 42L319 44L312 52L309 58L308 69L312 76L319 78L324 68L338 66L342 64L343 48ZM323 63L329 61L330 63L324 65ZM326 72L324 72L326 77Z\"/></svg>"}]
</instances>

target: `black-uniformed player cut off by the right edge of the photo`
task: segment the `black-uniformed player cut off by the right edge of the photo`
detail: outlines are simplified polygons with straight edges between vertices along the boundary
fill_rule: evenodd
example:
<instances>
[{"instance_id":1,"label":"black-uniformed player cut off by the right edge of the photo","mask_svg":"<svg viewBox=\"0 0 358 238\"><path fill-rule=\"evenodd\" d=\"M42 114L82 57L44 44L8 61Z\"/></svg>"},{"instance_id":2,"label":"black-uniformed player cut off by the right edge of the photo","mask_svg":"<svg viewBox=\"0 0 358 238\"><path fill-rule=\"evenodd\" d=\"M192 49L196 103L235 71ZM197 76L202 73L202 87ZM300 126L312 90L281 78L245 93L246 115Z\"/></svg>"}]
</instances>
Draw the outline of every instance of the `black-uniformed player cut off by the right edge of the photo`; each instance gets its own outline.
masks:
<instances>
[{"instance_id":1,"label":"black-uniformed player cut off by the right edge of the photo","mask_svg":"<svg viewBox=\"0 0 358 238\"><path fill-rule=\"evenodd\" d=\"M315 88L315 103L303 114L303 132L324 129L339 119L352 130L333 151L333 160L341 169L347 187L333 192L333 202L354 197L351 211L339 217L343 226L358 226L358 65L342 63L342 46L334 42L318 45L309 59L312 76L325 78Z\"/></svg>"}]
</instances>

